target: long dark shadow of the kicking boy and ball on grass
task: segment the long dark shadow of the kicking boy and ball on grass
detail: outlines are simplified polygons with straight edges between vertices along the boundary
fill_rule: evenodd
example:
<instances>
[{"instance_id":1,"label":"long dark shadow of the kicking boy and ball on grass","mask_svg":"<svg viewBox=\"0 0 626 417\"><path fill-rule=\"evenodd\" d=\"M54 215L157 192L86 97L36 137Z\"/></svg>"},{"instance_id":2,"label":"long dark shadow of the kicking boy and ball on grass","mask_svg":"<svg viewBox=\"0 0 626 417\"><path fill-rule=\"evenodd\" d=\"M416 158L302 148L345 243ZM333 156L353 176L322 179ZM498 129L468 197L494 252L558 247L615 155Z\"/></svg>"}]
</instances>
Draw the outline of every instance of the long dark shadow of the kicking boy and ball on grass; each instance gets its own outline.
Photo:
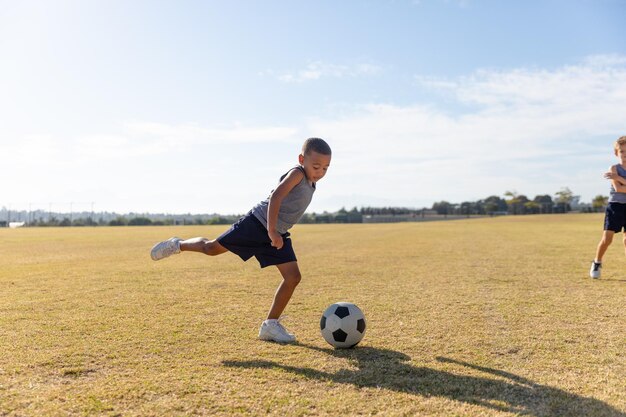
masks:
<instances>
[{"instance_id":1,"label":"long dark shadow of the kicking boy and ball on grass","mask_svg":"<svg viewBox=\"0 0 626 417\"><path fill-rule=\"evenodd\" d=\"M357 387L383 388L425 397L445 397L519 415L626 417L626 413L594 398L571 394L558 388L534 383L509 372L451 358L438 357L437 360L480 371L489 377L412 366L408 363L411 359L409 356L388 349L365 346L335 350L305 344L298 346L348 359L353 367L329 373L264 360L222 363L237 368L279 369L310 379L352 384Z\"/></svg>"}]
</instances>

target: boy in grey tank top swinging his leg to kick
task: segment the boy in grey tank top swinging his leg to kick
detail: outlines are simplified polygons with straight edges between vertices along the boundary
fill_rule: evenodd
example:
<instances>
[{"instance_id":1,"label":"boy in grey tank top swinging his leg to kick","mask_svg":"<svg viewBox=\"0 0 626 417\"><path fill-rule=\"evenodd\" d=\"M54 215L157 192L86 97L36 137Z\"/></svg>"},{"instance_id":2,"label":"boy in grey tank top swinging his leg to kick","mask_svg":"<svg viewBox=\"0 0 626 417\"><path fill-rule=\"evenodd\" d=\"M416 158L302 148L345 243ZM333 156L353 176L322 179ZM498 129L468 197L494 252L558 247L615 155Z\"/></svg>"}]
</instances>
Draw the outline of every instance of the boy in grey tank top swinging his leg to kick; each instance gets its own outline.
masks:
<instances>
[{"instance_id":1,"label":"boy in grey tank top swinging his leg to kick","mask_svg":"<svg viewBox=\"0 0 626 417\"><path fill-rule=\"evenodd\" d=\"M316 183L326 175L330 159L331 150L324 140L307 139L298 156L299 165L283 175L269 197L254 206L224 234L215 240L173 237L157 243L150 256L157 261L181 251L210 256L230 251L244 261L254 256L261 268L276 265L283 281L276 290L267 319L261 324L259 339L294 342L295 336L280 323L281 314L301 279L288 230L304 214Z\"/></svg>"}]
</instances>

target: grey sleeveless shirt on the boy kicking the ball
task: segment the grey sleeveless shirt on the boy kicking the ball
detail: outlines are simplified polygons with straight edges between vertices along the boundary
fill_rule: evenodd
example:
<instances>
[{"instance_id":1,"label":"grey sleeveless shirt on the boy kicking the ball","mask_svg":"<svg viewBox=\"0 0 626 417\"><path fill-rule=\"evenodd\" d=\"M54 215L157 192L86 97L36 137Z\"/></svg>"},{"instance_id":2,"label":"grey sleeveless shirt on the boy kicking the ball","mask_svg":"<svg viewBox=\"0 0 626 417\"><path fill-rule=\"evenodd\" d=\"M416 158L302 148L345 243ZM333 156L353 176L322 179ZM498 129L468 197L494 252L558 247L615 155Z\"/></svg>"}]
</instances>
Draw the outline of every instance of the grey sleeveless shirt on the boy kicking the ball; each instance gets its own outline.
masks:
<instances>
[{"instance_id":1,"label":"grey sleeveless shirt on the boy kicking the ball","mask_svg":"<svg viewBox=\"0 0 626 417\"><path fill-rule=\"evenodd\" d=\"M306 173L304 172L304 168L301 166L294 167L287 171L285 175L280 177L280 181L282 181L287 174L289 174L292 170L299 169L304 174L304 178L300 181L295 187L289 191L289 194L285 196L283 199L280 209L278 211L278 222L276 224L276 231L280 234L285 234L289 229L293 227L294 224L298 223L298 220L302 217L307 207L311 203L313 199L313 193L315 192L315 183L309 183L309 180L306 177ZM270 192L271 194L274 192ZM624 195L626 197L626 194ZM265 200L261 201L259 204L252 208L252 214L254 217L259 219L259 221L265 226L267 229L267 208L269 206L270 197L268 196Z\"/></svg>"}]
</instances>

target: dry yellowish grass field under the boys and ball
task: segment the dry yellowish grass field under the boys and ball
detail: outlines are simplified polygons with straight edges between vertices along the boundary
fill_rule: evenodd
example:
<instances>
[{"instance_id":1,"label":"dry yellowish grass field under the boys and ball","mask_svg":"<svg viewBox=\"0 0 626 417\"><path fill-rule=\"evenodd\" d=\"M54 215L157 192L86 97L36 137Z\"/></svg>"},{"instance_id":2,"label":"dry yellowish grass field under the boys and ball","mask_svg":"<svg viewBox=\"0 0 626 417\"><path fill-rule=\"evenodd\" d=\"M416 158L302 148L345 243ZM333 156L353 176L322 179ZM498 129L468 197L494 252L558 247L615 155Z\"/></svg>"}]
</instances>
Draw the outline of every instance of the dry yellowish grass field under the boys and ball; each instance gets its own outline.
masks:
<instances>
[{"instance_id":1,"label":"dry yellowish grass field under the boys and ball","mask_svg":"<svg viewBox=\"0 0 626 417\"><path fill-rule=\"evenodd\" d=\"M0 230L0 415L626 416L626 258L601 215L300 225L295 345L256 340L275 268L153 262L224 226ZM319 318L364 311L355 349Z\"/></svg>"}]
</instances>

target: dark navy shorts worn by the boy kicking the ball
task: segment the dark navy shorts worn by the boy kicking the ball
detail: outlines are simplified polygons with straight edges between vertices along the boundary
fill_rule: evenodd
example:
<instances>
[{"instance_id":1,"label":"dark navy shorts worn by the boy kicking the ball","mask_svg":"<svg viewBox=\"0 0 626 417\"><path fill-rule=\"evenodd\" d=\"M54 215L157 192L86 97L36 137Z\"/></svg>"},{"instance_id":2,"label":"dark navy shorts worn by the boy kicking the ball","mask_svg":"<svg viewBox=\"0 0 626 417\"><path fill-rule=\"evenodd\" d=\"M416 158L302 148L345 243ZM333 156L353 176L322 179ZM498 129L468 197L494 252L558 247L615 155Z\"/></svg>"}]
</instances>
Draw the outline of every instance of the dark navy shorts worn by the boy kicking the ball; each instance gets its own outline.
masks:
<instances>
[{"instance_id":1,"label":"dark navy shorts worn by the boy kicking the ball","mask_svg":"<svg viewBox=\"0 0 626 417\"><path fill-rule=\"evenodd\" d=\"M289 236L288 232L283 234L283 247L276 249L263 223L254 214L248 213L218 237L217 241L244 261L254 256L261 268L265 268L297 261Z\"/></svg>"}]
</instances>

